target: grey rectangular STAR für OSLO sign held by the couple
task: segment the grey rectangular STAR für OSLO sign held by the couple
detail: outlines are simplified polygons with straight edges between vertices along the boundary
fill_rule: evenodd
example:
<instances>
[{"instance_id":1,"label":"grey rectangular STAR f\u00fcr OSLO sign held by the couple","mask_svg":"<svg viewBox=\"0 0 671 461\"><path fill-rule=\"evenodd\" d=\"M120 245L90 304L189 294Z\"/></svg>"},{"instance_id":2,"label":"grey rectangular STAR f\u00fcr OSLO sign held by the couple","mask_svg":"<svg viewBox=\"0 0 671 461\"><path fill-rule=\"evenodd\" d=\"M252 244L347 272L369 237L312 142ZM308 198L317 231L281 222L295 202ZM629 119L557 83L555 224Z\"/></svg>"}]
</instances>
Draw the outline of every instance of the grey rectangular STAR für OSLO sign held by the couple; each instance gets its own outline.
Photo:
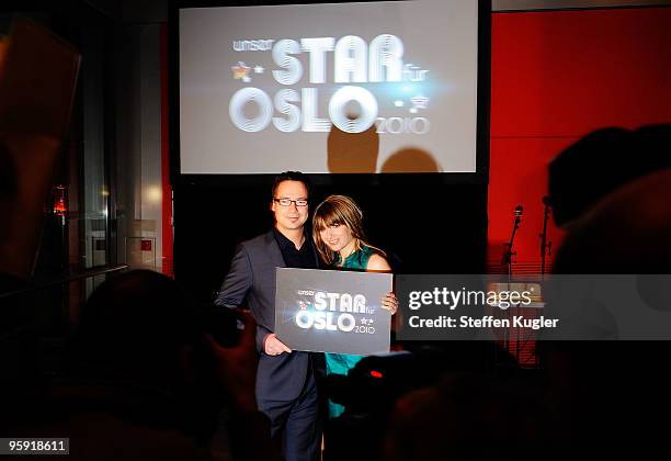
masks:
<instances>
[{"instance_id":1,"label":"grey rectangular STAR f\u00fcr OSLO sign held by the couple","mask_svg":"<svg viewBox=\"0 0 671 461\"><path fill-rule=\"evenodd\" d=\"M276 269L275 335L291 349L366 356L389 351L382 299L393 274Z\"/></svg>"}]
</instances>

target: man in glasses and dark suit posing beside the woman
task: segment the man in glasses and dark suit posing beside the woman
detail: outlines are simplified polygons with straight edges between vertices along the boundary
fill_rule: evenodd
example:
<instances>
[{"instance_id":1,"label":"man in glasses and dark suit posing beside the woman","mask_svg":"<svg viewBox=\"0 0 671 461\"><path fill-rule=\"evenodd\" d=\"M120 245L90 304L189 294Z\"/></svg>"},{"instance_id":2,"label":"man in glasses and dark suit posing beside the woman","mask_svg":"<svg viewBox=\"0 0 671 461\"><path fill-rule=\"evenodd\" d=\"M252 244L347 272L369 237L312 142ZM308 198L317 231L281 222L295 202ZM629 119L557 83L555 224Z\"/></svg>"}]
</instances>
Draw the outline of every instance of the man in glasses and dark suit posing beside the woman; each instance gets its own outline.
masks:
<instances>
[{"instance_id":1,"label":"man in glasses and dark suit posing beside the woman","mask_svg":"<svg viewBox=\"0 0 671 461\"><path fill-rule=\"evenodd\" d=\"M270 232L238 245L215 304L237 307L246 301L257 319L257 403L272 423L272 435L289 460L318 460L321 441L312 358L292 351L273 333L275 268L315 269L317 252L305 234L307 178L287 171L275 178Z\"/></svg>"}]
</instances>

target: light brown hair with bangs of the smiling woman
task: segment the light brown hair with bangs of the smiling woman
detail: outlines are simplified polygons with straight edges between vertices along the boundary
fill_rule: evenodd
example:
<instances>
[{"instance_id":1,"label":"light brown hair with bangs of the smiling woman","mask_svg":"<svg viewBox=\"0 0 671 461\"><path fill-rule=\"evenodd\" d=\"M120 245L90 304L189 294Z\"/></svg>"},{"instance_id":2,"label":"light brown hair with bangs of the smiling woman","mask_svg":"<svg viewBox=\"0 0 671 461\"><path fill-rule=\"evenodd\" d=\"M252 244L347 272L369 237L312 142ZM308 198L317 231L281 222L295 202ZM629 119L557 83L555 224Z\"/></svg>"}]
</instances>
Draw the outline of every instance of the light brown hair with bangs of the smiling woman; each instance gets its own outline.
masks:
<instances>
[{"instance_id":1,"label":"light brown hair with bangs of the smiling woman","mask_svg":"<svg viewBox=\"0 0 671 461\"><path fill-rule=\"evenodd\" d=\"M385 256L383 250L366 241L363 231L363 212L356 202L346 195L329 195L317 205L312 216L312 240L317 247L317 252L327 265L332 266L338 260L338 255L321 240L319 233L333 225L346 226L350 229L352 238L354 238L354 251L360 250L365 245L383 257Z\"/></svg>"}]
</instances>

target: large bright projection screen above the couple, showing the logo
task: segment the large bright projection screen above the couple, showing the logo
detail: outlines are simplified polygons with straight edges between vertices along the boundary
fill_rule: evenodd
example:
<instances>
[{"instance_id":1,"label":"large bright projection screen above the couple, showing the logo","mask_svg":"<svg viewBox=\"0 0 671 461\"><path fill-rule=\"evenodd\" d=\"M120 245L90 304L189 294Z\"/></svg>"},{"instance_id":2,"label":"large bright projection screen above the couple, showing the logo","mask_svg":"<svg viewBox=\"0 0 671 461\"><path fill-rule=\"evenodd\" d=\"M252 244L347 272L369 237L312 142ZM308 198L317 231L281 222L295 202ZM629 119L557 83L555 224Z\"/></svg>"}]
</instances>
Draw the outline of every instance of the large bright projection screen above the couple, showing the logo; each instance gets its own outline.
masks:
<instances>
[{"instance_id":1,"label":"large bright projection screen above the couple, showing the logo","mask_svg":"<svg viewBox=\"0 0 671 461\"><path fill-rule=\"evenodd\" d=\"M182 8L182 175L476 172L478 2Z\"/></svg>"}]
</instances>

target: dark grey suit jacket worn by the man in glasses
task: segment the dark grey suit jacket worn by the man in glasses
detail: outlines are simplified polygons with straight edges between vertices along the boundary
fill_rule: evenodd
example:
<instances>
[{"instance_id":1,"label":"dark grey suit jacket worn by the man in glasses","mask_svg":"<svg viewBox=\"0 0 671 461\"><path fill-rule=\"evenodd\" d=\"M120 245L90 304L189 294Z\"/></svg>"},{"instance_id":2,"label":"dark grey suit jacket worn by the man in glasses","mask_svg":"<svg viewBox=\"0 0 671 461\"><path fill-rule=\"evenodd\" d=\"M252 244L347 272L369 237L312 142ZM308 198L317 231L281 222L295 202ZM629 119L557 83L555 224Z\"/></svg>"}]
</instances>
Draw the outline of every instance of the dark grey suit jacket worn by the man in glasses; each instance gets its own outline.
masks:
<instances>
[{"instance_id":1,"label":"dark grey suit jacket worn by the man in glasses","mask_svg":"<svg viewBox=\"0 0 671 461\"><path fill-rule=\"evenodd\" d=\"M315 254L317 262L317 254ZM275 325L275 268L286 267L273 231L238 245L230 270L219 289L215 304L247 305L257 319L257 400L291 401L300 394L311 373L308 352L280 356L263 352L263 339ZM282 339L282 338L278 338Z\"/></svg>"}]
</instances>

